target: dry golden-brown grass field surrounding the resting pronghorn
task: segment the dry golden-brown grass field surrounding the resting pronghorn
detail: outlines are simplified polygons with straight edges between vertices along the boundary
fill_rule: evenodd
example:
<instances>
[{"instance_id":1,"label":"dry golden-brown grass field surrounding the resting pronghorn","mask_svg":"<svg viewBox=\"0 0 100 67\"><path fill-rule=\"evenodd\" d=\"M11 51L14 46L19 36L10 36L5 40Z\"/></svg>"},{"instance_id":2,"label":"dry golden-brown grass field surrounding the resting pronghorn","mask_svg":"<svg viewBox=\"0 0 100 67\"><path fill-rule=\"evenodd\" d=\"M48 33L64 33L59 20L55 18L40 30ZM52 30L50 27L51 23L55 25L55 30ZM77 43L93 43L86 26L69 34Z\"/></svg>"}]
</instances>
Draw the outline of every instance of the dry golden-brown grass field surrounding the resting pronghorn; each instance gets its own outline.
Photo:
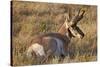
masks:
<instances>
[{"instance_id":1,"label":"dry golden-brown grass field surrounding the resting pronghorn","mask_svg":"<svg viewBox=\"0 0 100 67\"><path fill-rule=\"evenodd\" d=\"M65 14L72 16L78 9L86 11L78 26L85 33L83 39L73 38L69 44L69 56L62 63L97 60L97 7L89 5L50 4L35 2L12 2L12 65L38 64L25 57L31 37L46 32L57 32L65 21ZM57 64L52 58L44 64Z\"/></svg>"}]
</instances>

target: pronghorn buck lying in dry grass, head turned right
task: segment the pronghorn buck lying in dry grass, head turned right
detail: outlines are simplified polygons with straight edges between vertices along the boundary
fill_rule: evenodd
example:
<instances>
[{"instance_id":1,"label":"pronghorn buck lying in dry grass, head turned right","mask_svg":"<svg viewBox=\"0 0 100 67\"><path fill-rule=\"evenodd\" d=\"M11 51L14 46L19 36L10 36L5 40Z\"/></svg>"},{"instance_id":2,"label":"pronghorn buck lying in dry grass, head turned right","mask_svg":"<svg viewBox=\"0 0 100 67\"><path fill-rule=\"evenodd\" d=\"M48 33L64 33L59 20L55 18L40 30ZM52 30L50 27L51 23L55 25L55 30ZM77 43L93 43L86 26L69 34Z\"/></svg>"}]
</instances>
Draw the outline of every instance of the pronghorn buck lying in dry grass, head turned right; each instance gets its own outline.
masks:
<instances>
[{"instance_id":1,"label":"pronghorn buck lying in dry grass, head turned right","mask_svg":"<svg viewBox=\"0 0 100 67\"><path fill-rule=\"evenodd\" d=\"M72 37L83 38L84 33L77 26L83 18L85 11L79 10L72 19L66 14L66 20L56 33L45 33L36 35L27 49L26 55L37 58L42 57L44 62L49 56L65 57L68 55L68 44Z\"/></svg>"}]
</instances>

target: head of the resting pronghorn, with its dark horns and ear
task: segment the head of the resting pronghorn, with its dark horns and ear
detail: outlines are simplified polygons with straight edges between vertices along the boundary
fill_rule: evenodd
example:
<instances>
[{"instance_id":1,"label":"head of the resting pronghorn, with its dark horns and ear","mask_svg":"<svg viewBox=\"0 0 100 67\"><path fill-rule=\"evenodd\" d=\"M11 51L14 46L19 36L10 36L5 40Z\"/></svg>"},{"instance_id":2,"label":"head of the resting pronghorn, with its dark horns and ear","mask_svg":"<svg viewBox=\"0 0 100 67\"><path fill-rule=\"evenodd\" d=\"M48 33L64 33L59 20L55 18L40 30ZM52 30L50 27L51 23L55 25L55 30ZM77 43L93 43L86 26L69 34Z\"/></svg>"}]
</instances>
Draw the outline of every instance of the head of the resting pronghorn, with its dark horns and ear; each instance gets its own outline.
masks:
<instances>
[{"instance_id":1,"label":"head of the resting pronghorn, with its dark horns and ear","mask_svg":"<svg viewBox=\"0 0 100 67\"><path fill-rule=\"evenodd\" d=\"M66 32L67 36L69 37L77 37L77 38L83 38L84 33L82 30L77 26L77 23L83 18L85 11L79 10L76 15L70 19L69 14L66 15L66 29L68 30Z\"/></svg>"}]
</instances>

